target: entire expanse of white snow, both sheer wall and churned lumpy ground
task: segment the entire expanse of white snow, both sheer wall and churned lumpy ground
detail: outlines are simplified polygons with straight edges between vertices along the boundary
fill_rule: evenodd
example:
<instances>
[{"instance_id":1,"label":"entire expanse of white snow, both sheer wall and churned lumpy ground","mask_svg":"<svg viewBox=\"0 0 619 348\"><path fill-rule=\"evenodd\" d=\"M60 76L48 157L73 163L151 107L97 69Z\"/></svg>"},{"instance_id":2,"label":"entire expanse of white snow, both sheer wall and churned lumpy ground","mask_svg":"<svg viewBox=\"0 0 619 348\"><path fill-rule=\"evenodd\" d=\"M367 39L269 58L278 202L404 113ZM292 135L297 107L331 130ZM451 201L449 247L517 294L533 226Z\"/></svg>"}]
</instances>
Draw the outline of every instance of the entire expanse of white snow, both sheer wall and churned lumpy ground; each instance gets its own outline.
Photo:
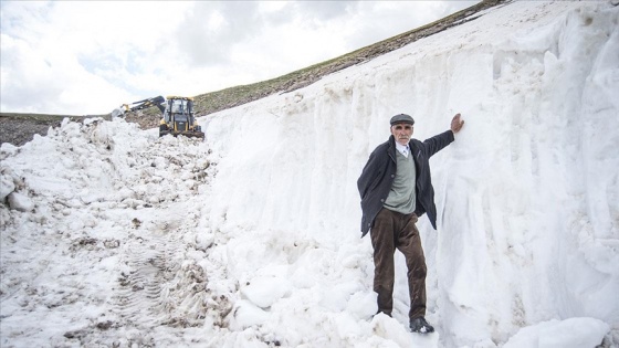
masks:
<instances>
[{"instance_id":1,"label":"entire expanse of white snow, both sheer wall and churned lumpy ground","mask_svg":"<svg viewBox=\"0 0 619 348\"><path fill-rule=\"evenodd\" d=\"M616 2L615 2L616 3ZM619 7L522 1L290 94L207 140L123 119L0 148L1 347L619 345ZM397 113L431 161L437 333L374 316L356 180Z\"/></svg>"}]
</instances>

